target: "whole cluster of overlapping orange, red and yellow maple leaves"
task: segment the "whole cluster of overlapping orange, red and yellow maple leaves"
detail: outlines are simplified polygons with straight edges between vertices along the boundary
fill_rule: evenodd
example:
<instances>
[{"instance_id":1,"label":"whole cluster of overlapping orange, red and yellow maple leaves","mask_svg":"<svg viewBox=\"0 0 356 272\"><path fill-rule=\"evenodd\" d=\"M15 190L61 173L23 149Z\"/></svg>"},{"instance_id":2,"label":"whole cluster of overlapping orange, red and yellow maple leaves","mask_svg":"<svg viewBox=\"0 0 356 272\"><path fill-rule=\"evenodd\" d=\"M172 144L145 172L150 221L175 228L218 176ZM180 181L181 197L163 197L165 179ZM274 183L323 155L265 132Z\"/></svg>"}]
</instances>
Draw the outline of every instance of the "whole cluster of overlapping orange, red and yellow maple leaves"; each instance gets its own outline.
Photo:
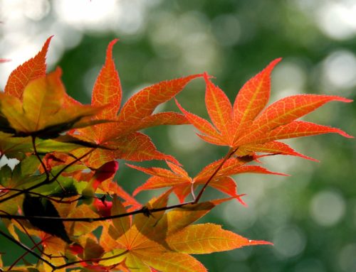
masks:
<instances>
[{"instance_id":1,"label":"whole cluster of overlapping orange, red and yellow maple leaves","mask_svg":"<svg viewBox=\"0 0 356 272\"><path fill-rule=\"evenodd\" d=\"M7 229L0 235L24 250L4 271L206 271L191 254L270 244L216 224L193 224L222 202L237 199L244 204L233 175L283 175L251 165L262 156L309 158L278 141L283 138L325 133L351 137L340 129L297 120L327 102L349 99L300 94L266 107L271 72L279 59L246 82L233 105L205 73L145 87L121 107L120 78L112 58L117 40L112 40L92 102L83 105L66 93L60 68L46 73L50 41L11 73L0 92L1 158L19 160L14 169L8 165L0 169L0 218ZM212 124L177 101L182 114L154 113L197 77L206 82ZM192 124L204 141L229 146L229 152L192 178L140 132L167 124ZM169 169L130 164L150 175L130 195L113 179L119 169L117 159L164 160ZM226 198L199 201L207 186ZM135 200L139 192L162 187L167 192L145 205ZM172 193L179 203L169 206ZM193 200L187 201L189 196ZM99 227L100 234L93 234ZM29 244L23 244L20 232L29 237ZM6 254L0 257L6 259ZM28 254L38 262L28 263Z\"/></svg>"}]
</instances>

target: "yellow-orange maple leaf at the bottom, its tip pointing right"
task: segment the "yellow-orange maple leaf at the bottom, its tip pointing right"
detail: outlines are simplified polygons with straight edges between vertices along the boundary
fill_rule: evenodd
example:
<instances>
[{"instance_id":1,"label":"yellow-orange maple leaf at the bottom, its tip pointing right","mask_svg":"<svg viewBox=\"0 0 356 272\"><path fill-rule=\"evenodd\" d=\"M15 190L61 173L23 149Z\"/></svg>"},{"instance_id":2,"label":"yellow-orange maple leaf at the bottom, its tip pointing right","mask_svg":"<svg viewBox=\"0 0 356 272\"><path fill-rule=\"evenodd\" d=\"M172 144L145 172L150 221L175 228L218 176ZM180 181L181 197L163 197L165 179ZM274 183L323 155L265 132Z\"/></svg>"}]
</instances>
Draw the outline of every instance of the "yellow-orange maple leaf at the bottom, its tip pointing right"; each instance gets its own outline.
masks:
<instances>
[{"instance_id":1,"label":"yellow-orange maple leaf at the bottom, its tip pointing right","mask_svg":"<svg viewBox=\"0 0 356 272\"><path fill-rule=\"evenodd\" d=\"M165 207L169 192L151 200L148 209ZM208 254L237 249L242 246L271 244L253 241L221 229L216 224L194 224L213 207L212 202L202 202L171 210L155 212L152 216L137 214L132 222L129 217L112 219L105 228L100 244L105 249L99 263L112 266L125 263L130 271L206 271L197 259L189 254ZM112 207L124 212L120 202ZM153 270L151 270L153 268Z\"/></svg>"}]
</instances>

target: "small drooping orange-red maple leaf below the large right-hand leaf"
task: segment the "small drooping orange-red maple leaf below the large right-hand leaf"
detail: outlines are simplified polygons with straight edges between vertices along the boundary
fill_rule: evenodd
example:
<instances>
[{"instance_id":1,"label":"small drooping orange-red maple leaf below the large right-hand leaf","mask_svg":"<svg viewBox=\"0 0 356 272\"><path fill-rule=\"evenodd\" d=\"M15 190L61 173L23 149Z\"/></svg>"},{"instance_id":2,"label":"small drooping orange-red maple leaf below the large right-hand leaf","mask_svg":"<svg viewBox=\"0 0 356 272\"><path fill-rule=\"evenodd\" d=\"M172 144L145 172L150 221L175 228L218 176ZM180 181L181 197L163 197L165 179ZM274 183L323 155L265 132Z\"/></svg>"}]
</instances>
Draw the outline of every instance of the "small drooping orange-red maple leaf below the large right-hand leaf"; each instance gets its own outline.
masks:
<instances>
[{"instance_id":1,"label":"small drooping orange-red maple leaf below the large right-hand leaf","mask_svg":"<svg viewBox=\"0 0 356 272\"><path fill-rule=\"evenodd\" d=\"M154 190L162 187L172 187L173 192L177 195L180 202L184 202L189 193L194 190L198 185L204 185L212 175L214 177L210 180L209 186L214 187L216 190L224 192L231 197L236 197L237 200L244 203L240 196L237 194L237 186L231 175L241 173L261 173L261 174L274 174L285 175L282 173L271 172L266 168L258 165L245 165L253 161L254 158L245 160L244 158L229 158L223 163L224 159L210 163L203 170L201 170L194 178L189 177L188 173L178 165L166 161L170 170L164 168L143 168L137 165L130 165L131 168L140 170L148 175L152 175L143 185L137 187L133 195L142 190ZM221 168L219 168L221 165ZM216 169L219 170L214 174Z\"/></svg>"}]
</instances>

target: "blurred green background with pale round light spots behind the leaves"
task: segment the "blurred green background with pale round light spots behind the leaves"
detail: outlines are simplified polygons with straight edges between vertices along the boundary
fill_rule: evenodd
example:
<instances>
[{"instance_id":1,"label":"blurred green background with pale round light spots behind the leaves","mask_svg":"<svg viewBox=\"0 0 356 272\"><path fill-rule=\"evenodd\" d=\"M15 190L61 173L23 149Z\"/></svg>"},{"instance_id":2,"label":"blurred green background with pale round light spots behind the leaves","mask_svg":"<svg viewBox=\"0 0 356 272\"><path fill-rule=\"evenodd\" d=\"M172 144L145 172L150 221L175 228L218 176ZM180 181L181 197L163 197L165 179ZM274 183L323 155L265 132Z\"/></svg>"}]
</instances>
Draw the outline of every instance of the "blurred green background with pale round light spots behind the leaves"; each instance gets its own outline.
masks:
<instances>
[{"instance_id":1,"label":"blurred green background with pale round light spots behind the leaves","mask_svg":"<svg viewBox=\"0 0 356 272\"><path fill-rule=\"evenodd\" d=\"M355 1L0 0L0 21L0 57L12 60L0 66L1 89L11 70L54 35L49 68L61 66L68 93L85 103L112 38L120 38L114 58L124 101L141 87L204 71L232 100L248 78L278 57L283 61L273 71L271 102L298 93L355 99ZM178 99L189 111L207 116L202 80ZM173 103L163 109L177 111ZM355 103L330 103L305 119L356 135L355 116ZM190 126L145 132L192 176L226 153L201 142ZM197 256L209 271L356 271L355 140L324 135L288 143L321 162L266 158L268 169L291 176L236 176L248 207L229 202L204 217L274 246ZM117 182L129 192L146 178L120 164ZM157 194L143 192L139 198ZM209 194L216 197L211 190L207 199ZM11 258L21 254L0 237L4 251L5 260L9 251Z\"/></svg>"}]
</instances>

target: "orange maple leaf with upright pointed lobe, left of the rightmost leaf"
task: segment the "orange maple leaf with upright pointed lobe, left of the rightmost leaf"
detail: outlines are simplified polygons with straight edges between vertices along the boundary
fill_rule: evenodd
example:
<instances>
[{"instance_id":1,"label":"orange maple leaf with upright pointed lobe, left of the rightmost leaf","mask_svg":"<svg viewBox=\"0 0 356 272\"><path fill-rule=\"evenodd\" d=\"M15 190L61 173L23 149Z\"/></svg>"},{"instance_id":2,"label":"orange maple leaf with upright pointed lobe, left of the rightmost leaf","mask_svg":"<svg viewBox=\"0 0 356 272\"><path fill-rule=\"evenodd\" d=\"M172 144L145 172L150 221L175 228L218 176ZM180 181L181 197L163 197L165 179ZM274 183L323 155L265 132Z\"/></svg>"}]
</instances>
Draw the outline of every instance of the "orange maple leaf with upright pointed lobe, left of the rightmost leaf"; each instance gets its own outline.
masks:
<instances>
[{"instance_id":1,"label":"orange maple leaf with upright pointed lobe, left of the rightmost leaf","mask_svg":"<svg viewBox=\"0 0 356 272\"><path fill-rule=\"evenodd\" d=\"M116 42L117 39L112 40L108 45L105 64L100 70L92 94L93 106L109 105L96 118L112 119L115 123L90 126L77 130L72 135L112 149L93 151L87 160L88 165L93 167L103 165L115 158L130 161L157 159L177 163L172 156L157 151L150 138L137 131L162 124L187 124L187 119L176 112L152 113L159 104L172 99L188 82L202 75L190 75L145 87L130 97L120 109L122 88L112 59L112 47ZM75 103L78 102L68 99L68 104ZM85 150L78 152L84 153Z\"/></svg>"}]
</instances>

